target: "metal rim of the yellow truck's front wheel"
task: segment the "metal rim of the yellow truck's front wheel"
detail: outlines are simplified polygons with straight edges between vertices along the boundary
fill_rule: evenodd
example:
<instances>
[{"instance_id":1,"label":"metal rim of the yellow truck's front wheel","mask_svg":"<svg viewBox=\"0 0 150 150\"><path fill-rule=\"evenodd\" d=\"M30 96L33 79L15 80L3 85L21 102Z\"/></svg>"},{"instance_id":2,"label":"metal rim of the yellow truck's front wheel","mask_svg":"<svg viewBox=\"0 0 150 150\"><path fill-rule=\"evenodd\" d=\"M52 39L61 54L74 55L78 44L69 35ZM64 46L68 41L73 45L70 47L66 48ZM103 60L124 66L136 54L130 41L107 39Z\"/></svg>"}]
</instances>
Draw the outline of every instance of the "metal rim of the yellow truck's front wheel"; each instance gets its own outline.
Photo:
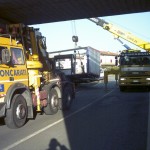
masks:
<instances>
[{"instance_id":1,"label":"metal rim of the yellow truck's front wheel","mask_svg":"<svg viewBox=\"0 0 150 150\"><path fill-rule=\"evenodd\" d=\"M16 108L16 116L18 119L23 119L26 115L26 108L24 105L19 104L18 107Z\"/></svg>"}]
</instances>

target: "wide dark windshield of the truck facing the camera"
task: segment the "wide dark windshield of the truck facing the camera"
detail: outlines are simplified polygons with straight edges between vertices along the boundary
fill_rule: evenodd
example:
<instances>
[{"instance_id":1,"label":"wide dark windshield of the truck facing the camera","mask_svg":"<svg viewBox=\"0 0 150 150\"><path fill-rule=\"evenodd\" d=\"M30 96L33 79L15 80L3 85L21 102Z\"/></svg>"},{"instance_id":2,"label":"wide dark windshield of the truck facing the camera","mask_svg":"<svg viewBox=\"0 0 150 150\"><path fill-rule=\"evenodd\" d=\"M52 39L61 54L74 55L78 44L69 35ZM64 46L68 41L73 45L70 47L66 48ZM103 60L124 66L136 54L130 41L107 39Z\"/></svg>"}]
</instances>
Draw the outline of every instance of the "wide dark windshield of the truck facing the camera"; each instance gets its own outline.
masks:
<instances>
[{"instance_id":1,"label":"wide dark windshield of the truck facing the camera","mask_svg":"<svg viewBox=\"0 0 150 150\"><path fill-rule=\"evenodd\" d=\"M121 56L120 65L150 65L150 56Z\"/></svg>"}]
</instances>

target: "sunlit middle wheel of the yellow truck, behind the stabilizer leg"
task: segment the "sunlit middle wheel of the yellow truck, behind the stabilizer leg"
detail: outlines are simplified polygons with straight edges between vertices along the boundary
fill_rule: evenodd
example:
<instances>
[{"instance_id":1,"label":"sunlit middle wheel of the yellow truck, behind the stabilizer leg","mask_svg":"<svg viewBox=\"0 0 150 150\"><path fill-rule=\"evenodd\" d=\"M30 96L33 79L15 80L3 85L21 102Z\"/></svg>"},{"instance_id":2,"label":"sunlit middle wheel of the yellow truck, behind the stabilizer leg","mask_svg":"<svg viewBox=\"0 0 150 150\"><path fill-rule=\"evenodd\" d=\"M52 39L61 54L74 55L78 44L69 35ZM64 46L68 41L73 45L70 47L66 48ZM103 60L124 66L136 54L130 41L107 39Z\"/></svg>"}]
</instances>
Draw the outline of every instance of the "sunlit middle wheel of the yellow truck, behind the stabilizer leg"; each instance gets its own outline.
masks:
<instances>
[{"instance_id":1,"label":"sunlit middle wheel of the yellow truck, behind the stabilizer leg","mask_svg":"<svg viewBox=\"0 0 150 150\"><path fill-rule=\"evenodd\" d=\"M48 94L49 94L48 96L49 101L47 106L44 107L43 110L46 115L53 115L58 112L58 108L59 108L58 94L55 89L51 89Z\"/></svg>"}]
</instances>

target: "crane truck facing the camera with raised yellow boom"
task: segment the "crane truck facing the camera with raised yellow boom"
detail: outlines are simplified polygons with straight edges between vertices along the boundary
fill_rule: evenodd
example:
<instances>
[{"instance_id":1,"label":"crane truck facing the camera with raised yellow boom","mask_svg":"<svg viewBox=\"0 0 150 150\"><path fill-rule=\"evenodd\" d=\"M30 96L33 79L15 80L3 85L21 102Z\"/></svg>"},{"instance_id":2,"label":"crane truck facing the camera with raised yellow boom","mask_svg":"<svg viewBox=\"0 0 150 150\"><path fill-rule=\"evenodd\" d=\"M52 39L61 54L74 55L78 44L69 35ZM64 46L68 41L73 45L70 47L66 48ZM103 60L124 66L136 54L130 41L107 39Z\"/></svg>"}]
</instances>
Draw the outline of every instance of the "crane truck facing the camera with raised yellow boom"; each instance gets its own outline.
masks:
<instances>
[{"instance_id":1,"label":"crane truck facing the camera with raised yellow boom","mask_svg":"<svg viewBox=\"0 0 150 150\"><path fill-rule=\"evenodd\" d=\"M103 29L112 33L115 38L125 39L126 41L143 49L133 50L126 47L119 54L119 88L124 91L127 87L150 87L150 42L147 42L132 33L106 22L100 18L89 18L90 21L101 26Z\"/></svg>"}]
</instances>

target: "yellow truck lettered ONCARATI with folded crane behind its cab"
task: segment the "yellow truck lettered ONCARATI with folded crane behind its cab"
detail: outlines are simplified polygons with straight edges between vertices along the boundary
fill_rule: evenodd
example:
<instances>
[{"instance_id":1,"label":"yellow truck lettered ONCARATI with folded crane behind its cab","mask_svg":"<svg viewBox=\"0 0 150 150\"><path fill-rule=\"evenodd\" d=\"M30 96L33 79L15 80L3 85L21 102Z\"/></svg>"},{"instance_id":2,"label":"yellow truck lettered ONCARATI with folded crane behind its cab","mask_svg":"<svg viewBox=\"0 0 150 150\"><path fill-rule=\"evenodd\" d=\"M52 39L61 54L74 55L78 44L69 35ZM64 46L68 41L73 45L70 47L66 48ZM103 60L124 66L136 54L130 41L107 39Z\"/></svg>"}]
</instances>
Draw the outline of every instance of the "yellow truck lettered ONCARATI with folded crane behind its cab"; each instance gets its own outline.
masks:
<instances>
[{"instance_id":1,"label":"yellow truck lettered ONCARATI with folded crane behind its cab","mask_svg":"<svg viewBox=\"0 0 150 150\"><path fill-rule=\"evenodd\" d=\"M22 127L34 111L69 109L74 98L73 83L53 74L39 29L0 25L0 117L9 128Z\"/></svg>"}]
</instances>

